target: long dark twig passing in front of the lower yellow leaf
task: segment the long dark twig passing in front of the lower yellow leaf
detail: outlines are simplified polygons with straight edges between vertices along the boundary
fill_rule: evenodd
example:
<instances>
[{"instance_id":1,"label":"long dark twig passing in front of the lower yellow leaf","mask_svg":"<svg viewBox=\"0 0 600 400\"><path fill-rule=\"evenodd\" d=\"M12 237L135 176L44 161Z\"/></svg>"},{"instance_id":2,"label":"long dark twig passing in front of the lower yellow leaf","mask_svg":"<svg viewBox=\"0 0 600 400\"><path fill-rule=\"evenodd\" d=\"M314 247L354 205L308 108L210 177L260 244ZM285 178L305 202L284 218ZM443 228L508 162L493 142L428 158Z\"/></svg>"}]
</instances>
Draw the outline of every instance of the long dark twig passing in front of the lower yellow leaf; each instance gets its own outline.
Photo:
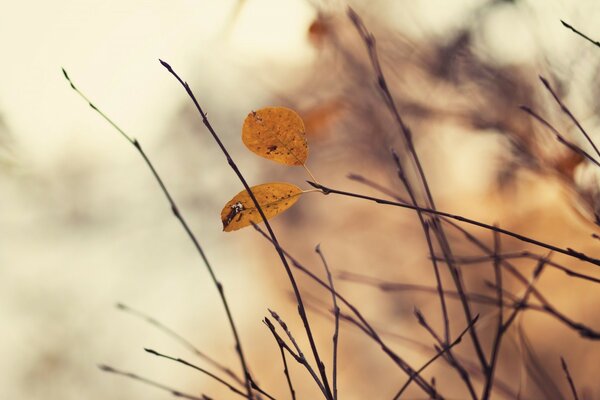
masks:
<instances>
[{"instance_id":1,"label":"long dark twig passing in front of the lower yellow leaf","mask_svg":"<svg viewBox=\"0 0 600 400\"><path fill-rule=\"evenodd\" d=\"M286 258L284 256L284 254L283 254L283 252L281 250L281 247L279 246L279 242L277 240L277 237L275 236L275 232L271 228L271 224L267 220L267 217L265 216L265 213L264 213L262 207L260 206L259 202L256 200L256 197L254 196L254 193L252 192L252 189L250 189L250 186L248 185L248 183L246 181L246 178L244 178L244 176L241 173L240 169L238 168L238 166L236 165L236 163L233 161L233 159L229 155L229 152L225 148L225 145L223 144L223 142L219 138L219 135L217 135L217 132L214 130L214 128L210 124L210 122L209 122L209 120L208 120L208 118L206 116L206 113L204 112L204 110L200 106L200 103L196 99L196 96L192 92L192 89L190 88L190 86L188 85L188 83L185 82L185 81L183 81L179 77L179 75L173 70L173 68L171 68L171 66L168 63L166 63L163 60L160 60L160 63L162 64L163 67L165 67L167 69L167 71L169 71L171 73L171 75L173 75L175 77L175 79L177 79L177 81L185 89L186 93L188 94L188 96L190 97L190 99L192 100L192 102L194 103L194 106L196 107L196 110L200 114L200 117L202 118L203 124L209 130L209 132L212 135L213 139L215 140L215 142L217 143L217 145L219 146L219 148L223 152L223 155L227 159L227 163L229 164L229 166L231 167L231 169L234 171L234 173L236 174L236 176L238 177L238 179L240 180L240 182L242 183L242 185L246 189L246 192L248 192L248 195L252 199L252 202L254 203L254 206L258 210L258 212L259 212L259 214L260 214L260 216L262 218L262 221L264 222L265 227L267 228L267 231L269 232L269 236L271 237L271 239L273 241L273 245L275 247L275 250L277 251L277 254L279 255L279 258L281 259L281 263L283 264L283 267L284 267L284 269L285 269L285 271L287 273L288 279L289 279L289 281L290 281L290 283L292 285L292 289L294 290L294 295L296 296L296 302L298 303L298 314L300 315L300 319L302 320L302 323L304 325L304 330L306 331L306 336L308 337L308 341L310 343L312 354L313 354L313 356L315 358L315 362L317 363L317 366L319 368L319 372L320 372L320 376L321 376L321 381L323 383L323 386L325 387L325 398L328 399L328 400L332 400L333 395L331 393L331 388L329 387L329 383L328 383L328 380L327 380L327 374L325 373L325 365L321 361L321 357L319 356L319 352L317 350L317 345L315 343L315 340L314 340L314 337L313 337L313 334L312 334L312 330L310 328L310 323L308 321L308 316L306 315L306 309L305 309L304 304L302 302L302 295L300 294L300 289L298 288L298 284L296 283L296 279L294 278L294 274L292 272L292 269L290 268L290 266L289 266L289 264L288 264L288 262L287 262L287 260L286 260Z\"/></svg>"}]
</instances>

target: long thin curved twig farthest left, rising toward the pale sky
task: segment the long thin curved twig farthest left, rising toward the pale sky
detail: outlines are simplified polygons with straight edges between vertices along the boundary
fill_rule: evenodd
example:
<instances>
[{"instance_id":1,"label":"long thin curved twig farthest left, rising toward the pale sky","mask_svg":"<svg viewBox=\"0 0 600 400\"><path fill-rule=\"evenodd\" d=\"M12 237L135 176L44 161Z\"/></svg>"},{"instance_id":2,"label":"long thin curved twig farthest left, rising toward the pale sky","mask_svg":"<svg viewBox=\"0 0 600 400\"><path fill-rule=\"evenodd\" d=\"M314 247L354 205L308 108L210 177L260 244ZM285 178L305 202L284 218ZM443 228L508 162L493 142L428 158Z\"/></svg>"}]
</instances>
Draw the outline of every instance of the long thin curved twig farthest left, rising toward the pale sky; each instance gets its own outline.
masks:
<instances>
[{"instance_id":1,"label":"long thin curved twig farthest left, rising toward the pale sky","mask_svg":"<svg viewBox=\"0 0 600 400\"><path fill-rule=\"evenodd\" d=\"M131 136L127 135L117 124L115 124L106 114L104 114L101 110L99 110L76 86L75 84L71 81L71 78L69 78L69 75L67 74L67 72L63 69L63 74L65 76L65 78L67 79L67 81L69 82L69 84L71 85L71 88L79 95L81 96L81 98L83 98L88 104L89 106L96 111L98 114L100 114L100 116L102 118L104 118L110 125L112 125L133 147L135 147L135 149L138 151L138 153L140 154L140 156L144 159L144 162L146 163L146 165L148 166L148 168L150 169L150 171L152 172L152 175L154 176L154 178L156 179L156 182L158 183L158 185L160 186L163 194L165 195L165 197L167 198L167 201L169 202L169 205L171 207L171 211L173 212L173 215L175 216L175 218L177 218L177 220L179 220L181 226L183 227L183 229L185 230L186 234L188 235L189 239L192 241L192 243L194 244L194 247L196 248L196 251L198 252L198 254L200 255L200 257L202 258L202 261L204 262L204 265L206 266L206 269L208 270L208 273L213 281L213 284L215 285L215 287L217 288L218 292L219 292L219 296L221 298L221 303L223 304L223 307L225 308L225 313L227 314L227 320L229 321L229 326L231 327L231 331L233 333L233 337L235 340L235 348L236 348L236 352L238 354L238 357L240 359L240 364L242 366L242 371L244 372L244 377L245 377L245 386L246 386L246 393L247 393L247 398L248 399L252 399L252 389L250 387L250 380L249 380L249 370L248 370L248 365L246 363L246 359L244 356L244 352L242 351L242 345L241 345L241 340L239 338L239 334L236 328L236 325L233 321L233 315L231 313L231 310L229 308L229 303L227 302L227 299L225 297L225 291L223 289L223 285L221 284L221 282L219 282L219 280L217 279L217 276L215 275L215 272L210 264L210 262L208 261L208 258L206 256L206 254L204 253L204 250L202 249L202 247L200 246L200 242L198 241L198 239L196 238L196 236L194 235L194 233L192 232L191 228L189 227L187 221L185 220L185 218L183 217L183 215L181 214L181 212L179 211L179 207L177 206L177 204L175 203L175 200L173 200L173 197L171 196L170 192L167 190L166 185L164 184L162 178L160 177L160 175L158 174L158 172L156 171L156 169L154 168L154 165L152 164L152 162L150 161L150 159L148 158L148 156L146 155L146 153L144 152L144 150L142 149L141 144L134 138L132 138Z\"/></svg>"}]
</instances>

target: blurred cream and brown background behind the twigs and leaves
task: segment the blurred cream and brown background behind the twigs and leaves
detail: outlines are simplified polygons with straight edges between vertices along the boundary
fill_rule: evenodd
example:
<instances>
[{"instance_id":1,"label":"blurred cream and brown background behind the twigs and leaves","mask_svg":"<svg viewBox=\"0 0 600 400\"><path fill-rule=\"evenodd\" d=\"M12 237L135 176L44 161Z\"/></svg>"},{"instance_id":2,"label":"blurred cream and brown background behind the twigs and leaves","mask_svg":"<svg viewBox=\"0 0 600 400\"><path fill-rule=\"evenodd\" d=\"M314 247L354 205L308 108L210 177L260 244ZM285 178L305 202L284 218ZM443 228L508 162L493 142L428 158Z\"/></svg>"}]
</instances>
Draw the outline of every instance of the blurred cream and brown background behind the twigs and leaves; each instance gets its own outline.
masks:
<instances>
[{"instance_id":1,"label":"blurred cream and brown background behind the twigs and leaves","mask_svg":"<svg viewBox=\"0 0 600 400\"><path fill-rule=\"evenodd\" d=\"M597 231L595 172L518 106L536 108L588 149L538 75L556 85L589 132L597 132L600 49L566 30L560 19L600 38L595 23L600 5L377 0L352 6L378 39L438 206L599 255L590 237ZM345 7L308 0L3 0L0 398L169 398L103 374L97 365L104 363L196 395L231 397L203 376L146 354L143 347L194 359L139 318L118 311L117 302L163 321L238 367L217 292L156 182L135 150L69 88L61 67L142 143L225 285L255 375L278 398L287 396L278 350L261 319L267 307L274 308L301 336L289 284L272 249L252 229L221 232L221 208L241 187L158 58L190 83L252 184L307 179L300 170L258 159L241 143L249 111L281 104L304 117L309 166L321 182L368 192L346 178L352 172L399 191L389 158L389 148L398 146L397 132ZM322 243L336 274L432 285L412 213L332 196L305 197L274 226L283 245L311 269L323 274L313 253ZM491 240L487 232L478 234ZM461 246L457 252L466 254ZM522 249L509 240L505 246ZM577 263L573 268L595 272ZM327 293L302 284L311 307L326 311ZM477 271L469 284L482 286ZM339 287L376 326L431 344L412 310L419 306L439 323L434 297L390 295L345 280ZM549 272L542 289L575 320L600 329L600 295L593 285ZM328 348L331 321L322 314L315 310L311 318ZM593 380L598 345L556 320L523 318L541 364L547 356L547 374L559 382L551 394L529 382L527 372L515 367L524 362L518 347L507 344L499 374L513 391L522 388L524 399L563 398L566 382L556 360L564 348L556 345L568 342L584 398L600 396ZM463 322L457 319L455 331ZM342 335L342 397L391 397L405 376L356 329L345 326ZM415 365L431 355L409 341L391 340ZM329 357L329 350L324 353ZM455 398L463 398L455 373L439 364L432 373L440 387L445 383ZM308 396L302 397L315 396L304 371L292 370L299 392Z\"/></svg>"}]
</instances>

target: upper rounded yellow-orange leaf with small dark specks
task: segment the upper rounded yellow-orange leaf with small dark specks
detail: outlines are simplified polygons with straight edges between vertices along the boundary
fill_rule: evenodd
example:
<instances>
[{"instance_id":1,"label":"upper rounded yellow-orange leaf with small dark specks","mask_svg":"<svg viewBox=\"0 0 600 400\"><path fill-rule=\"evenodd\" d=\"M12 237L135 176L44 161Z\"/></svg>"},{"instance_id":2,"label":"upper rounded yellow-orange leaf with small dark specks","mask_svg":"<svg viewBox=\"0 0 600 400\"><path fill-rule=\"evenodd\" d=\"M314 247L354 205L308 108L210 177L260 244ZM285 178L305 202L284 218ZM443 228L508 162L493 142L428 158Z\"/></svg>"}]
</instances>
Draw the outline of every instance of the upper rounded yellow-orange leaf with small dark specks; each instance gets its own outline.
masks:
<instances>
[{"instance_id":1,"label":"upper rounded yellow-orange leaf with small dark specks","mask_svg":"<svg viewBox=\"0 0 600 400\"><path fill-rule=\"evenodd\" d=\"M285 165L304 165L308 158L302 118L285 107L252 111L244 120L242 141L252 152Z\"/></svg>"}]
</instances>

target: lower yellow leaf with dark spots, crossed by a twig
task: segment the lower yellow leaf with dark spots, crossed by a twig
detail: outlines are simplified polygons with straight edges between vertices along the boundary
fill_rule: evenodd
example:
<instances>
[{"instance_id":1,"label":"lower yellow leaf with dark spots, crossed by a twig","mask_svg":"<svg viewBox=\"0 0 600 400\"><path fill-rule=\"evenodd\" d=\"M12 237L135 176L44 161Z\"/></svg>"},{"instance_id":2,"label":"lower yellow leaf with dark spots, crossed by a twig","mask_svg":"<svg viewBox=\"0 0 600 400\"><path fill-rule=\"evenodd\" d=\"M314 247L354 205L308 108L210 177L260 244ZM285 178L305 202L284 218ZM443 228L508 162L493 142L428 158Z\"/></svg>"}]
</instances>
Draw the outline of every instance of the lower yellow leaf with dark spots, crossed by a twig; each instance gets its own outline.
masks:
<instances>
[{"instance_id":1,"label":"lower yellow leaf with dark spots, crossed by a twig","mask_svg":"<svg viewBox=\"0 0 600 400\"><path fill-rule=\"evenodd\" d=\"M290 208L303 193L299 187L283 182L264 183L251 189L267 219ZM243 190L223 207L221 222L223 230L231 232L251 225L252 222L262 222L262 217L248 192Z\"/></svg>"}]
</instances>

